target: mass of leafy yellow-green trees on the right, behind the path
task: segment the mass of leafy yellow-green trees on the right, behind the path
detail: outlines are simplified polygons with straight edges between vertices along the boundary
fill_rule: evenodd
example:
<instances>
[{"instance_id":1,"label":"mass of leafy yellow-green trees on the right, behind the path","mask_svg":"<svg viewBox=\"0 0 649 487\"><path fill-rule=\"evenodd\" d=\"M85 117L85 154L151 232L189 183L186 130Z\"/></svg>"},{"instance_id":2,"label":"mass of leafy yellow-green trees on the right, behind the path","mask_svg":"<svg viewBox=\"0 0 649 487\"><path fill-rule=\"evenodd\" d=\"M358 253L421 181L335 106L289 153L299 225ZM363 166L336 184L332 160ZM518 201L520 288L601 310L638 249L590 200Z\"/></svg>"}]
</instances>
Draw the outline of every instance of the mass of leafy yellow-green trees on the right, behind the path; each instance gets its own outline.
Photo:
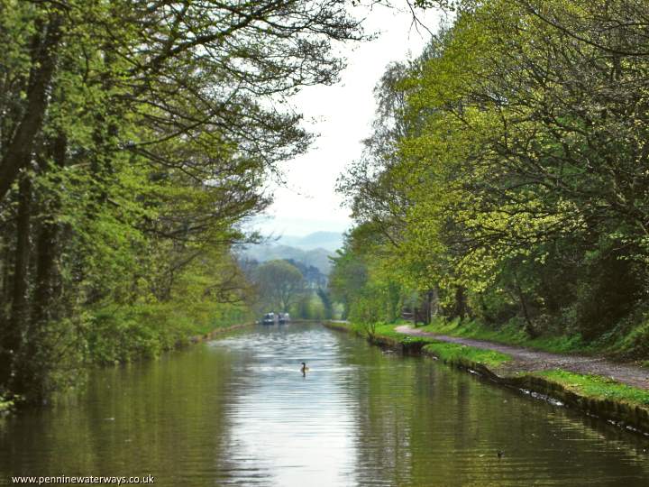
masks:
<instances>
[{"instance_id":1,"label":"mass of leafy yellow-green trees on the right, behind the path","mask_svg":"<svg viewBox=\"0 0 649 487\"><path fill-rule=\"evenodd\" d=\"M339 181L356 225L334 298L357 320L412 304L533 336L626 335L646 357L649 4L452 4L376 88Z\"/></svg>"}]
</instances>

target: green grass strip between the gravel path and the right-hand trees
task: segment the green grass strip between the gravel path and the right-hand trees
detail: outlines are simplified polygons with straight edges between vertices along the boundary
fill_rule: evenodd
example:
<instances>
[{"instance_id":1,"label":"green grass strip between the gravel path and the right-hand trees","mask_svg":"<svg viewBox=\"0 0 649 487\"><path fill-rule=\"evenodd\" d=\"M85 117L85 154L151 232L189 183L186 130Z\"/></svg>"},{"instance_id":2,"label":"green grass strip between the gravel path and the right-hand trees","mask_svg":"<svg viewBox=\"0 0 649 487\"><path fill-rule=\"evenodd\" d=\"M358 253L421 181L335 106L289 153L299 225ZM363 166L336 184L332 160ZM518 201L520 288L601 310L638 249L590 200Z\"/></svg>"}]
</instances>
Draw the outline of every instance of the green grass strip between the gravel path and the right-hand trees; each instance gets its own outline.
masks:
<instances>
[{"instance_id":1,"label":"green grass strip between the gravel path and the right-hand trees","mask_svg":"<svg viewBox=\"0 0 649 487\"><path fill-rule=\"evenodd\" d=\"M478 340L488 340L507 345L520 345L545 352L555 354L592 354L596 350L593 345L586 344L580 335L561 335L561 336L541 336L530 338L515 324L508 324L498 328L485 326L476 321L470 320L444 320L442 318L434 320L428 326L422 326L427 332L437 333L440 335L462 336L465 338L475 338Z\"/></svg>"}]
</instances>

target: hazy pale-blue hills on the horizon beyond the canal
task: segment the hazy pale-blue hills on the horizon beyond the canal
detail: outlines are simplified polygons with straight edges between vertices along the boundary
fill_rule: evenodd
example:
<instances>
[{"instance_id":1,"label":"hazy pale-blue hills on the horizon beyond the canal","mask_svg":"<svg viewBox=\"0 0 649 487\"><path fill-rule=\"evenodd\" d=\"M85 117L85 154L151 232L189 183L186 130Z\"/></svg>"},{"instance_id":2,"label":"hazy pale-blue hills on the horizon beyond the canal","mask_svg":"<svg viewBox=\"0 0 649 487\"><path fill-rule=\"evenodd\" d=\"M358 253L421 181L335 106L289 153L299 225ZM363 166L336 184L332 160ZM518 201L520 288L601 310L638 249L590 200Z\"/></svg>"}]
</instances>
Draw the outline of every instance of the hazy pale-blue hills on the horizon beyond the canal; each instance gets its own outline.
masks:
<instances>
[{"instance_id":1,"label":"hazy pale-blue hills on the horizon beyond the canal","mask_svg":"<svg viewBox=\"0 0 649 487\"><path fill-rule=\"evenodd\" d=\"M258 262L275 259L293 259L305 265L313 265L324 275L329 275L329 256L343 246L343 234L315 232L303 237L285 235L276 242L250 245L243 255Z\"/></svg>"}]
</instances>

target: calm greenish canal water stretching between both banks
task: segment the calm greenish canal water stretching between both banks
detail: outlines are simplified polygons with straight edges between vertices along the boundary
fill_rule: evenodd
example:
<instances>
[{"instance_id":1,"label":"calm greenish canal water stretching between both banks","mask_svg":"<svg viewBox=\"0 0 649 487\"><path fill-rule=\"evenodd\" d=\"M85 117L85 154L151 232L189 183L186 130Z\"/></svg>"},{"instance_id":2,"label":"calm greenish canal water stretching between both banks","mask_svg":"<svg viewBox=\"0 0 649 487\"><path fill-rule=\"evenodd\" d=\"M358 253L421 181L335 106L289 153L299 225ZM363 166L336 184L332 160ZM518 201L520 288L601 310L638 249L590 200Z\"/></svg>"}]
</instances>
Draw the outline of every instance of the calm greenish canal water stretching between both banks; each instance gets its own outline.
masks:
<instances>
[{"instance_id":1,"label":"calm greenish canal water stretching between both banks","mask_svg":"<svg viewBox=\"0 0 649 487\"><path fill-rule=\"evenodd\" d=\"M299 324L96 371L65 403L0 421L0 484L149 474L173 486L646 486L649 439Z\"/></svg>"}]
</instances>

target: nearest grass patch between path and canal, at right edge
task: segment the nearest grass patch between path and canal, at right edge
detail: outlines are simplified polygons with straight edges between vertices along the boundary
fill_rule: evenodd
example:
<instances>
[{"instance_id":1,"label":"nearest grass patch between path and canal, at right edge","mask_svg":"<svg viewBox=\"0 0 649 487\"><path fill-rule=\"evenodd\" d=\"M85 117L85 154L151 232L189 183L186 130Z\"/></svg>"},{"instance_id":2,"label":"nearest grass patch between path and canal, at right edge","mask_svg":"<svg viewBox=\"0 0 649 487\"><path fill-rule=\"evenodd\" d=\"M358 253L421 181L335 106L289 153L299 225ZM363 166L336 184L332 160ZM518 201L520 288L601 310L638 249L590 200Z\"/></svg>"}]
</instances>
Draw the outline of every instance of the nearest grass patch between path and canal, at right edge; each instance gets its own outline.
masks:
<instances>
[{"instance_id":1,"label":"nearest grass patch between path and canal, at right edge","mask_svg":"<svg viewBox=\"0 0 649 487\"><path fill-rule=\"evenodd\" d=\"M534 375L548 381L562 384L563 387L580 396L602 400L615 400L633 405L649 406L649 391L621 384L599 375L582 375L560 369L535 372Z\"/></svg>"}]
</instances>

